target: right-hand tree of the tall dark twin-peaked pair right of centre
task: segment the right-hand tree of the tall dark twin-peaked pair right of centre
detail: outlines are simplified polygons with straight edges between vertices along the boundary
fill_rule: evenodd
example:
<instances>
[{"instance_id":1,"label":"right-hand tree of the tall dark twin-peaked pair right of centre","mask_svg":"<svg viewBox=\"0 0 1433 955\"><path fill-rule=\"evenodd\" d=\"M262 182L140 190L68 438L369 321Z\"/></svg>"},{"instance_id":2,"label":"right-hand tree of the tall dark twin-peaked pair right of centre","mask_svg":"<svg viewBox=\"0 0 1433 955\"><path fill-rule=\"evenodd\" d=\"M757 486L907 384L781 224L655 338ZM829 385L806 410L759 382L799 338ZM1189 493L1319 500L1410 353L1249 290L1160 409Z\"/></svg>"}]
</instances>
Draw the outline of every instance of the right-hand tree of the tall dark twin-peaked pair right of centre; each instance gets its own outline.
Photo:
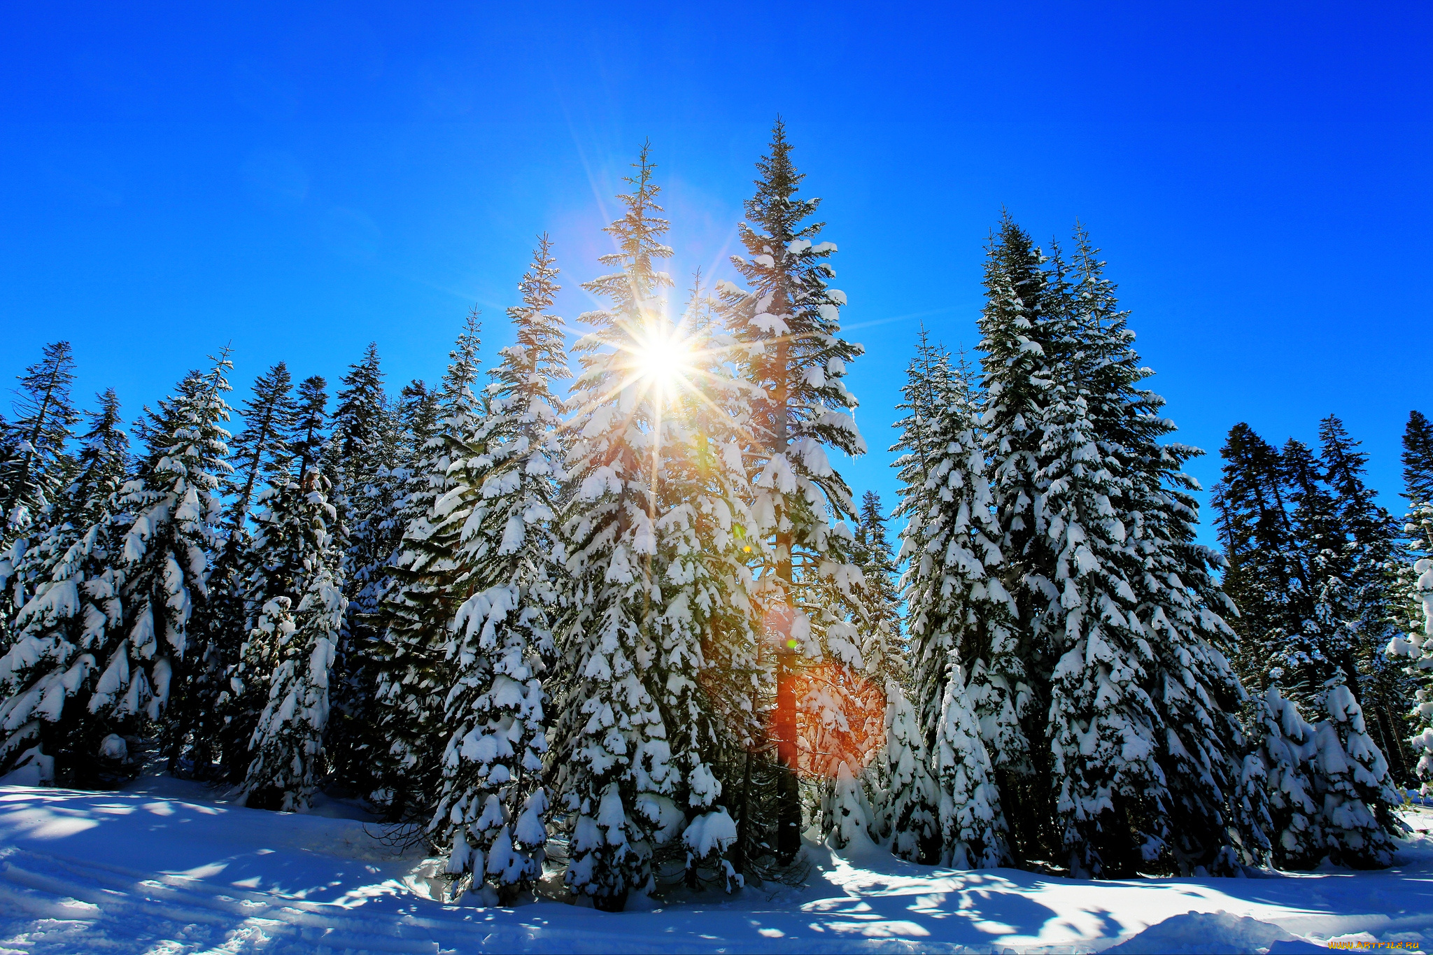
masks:
<instances>
[{"instance_id":1,"label":"right-hand tree of the tall dark twin-peaked pair right of centre","mask_svg":"<svg viewBox=\"0 0 1433 955\"><path fill-rule=\"evenodd\" d=\"M1099 451L1111 471L1123 470L1129 478L1112 530L1118 540L1123 525L1125 548L1136 557L1126 558L1125 578L1138 598L1139 626L1132 624L1131 631L1138 634L1142 627L1145 643L1136 639L1126 659L1146 667L1146 682L1132 687L1131 696L1148 696L1154 704L1155 749L1146 759L1156 767L1151 772L1168 780L1174 805L1165 848L1156 853L1145 845L1141 852L1144 859L1181 872L1235 871L1254 862L1231 809L1247 746L1240 724L1247 694L1227 657L1234 633L1224 617L1234 613L1234 604L1214 577L1221 558L1195 541L1199 514L1192 491L1199 485L1182 471L1202 451L1164 441L1175 427L1162 414L1164 398L1139 387L1151 372L1139 365L1128 314L1119 311L1115 286L1103 278L1096 256L1098 249L1078 231L1068 302L1079 329L1085 377L1093 382L1096 399L1088 404L1102 437ZM1102 680L1103 673L1095 679ZM1098 699L1095 706L1101 706ZM1115 803L1118 813L1118 798Z\"/></svg>"}]
</instances>

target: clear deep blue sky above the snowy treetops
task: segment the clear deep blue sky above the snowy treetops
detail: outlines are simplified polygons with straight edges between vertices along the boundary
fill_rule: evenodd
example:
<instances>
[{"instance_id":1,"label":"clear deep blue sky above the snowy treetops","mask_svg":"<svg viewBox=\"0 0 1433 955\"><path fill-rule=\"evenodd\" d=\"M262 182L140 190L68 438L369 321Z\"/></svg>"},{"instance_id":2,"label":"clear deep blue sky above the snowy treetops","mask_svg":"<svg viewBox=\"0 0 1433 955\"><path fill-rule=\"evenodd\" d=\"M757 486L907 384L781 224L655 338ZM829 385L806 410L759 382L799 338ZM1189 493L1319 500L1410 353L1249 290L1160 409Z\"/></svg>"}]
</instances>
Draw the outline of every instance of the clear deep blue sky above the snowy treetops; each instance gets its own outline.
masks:
<instances>
[{"instance_id":1,"label":"clear deep blue sky above the snowy treetops","mask_svg":"<svg viewBox=\"0 0 1433 955\"><path fill-rule=\"evenodd\" d=\"M214 6L0 13L0 375L67 338L133 415L231 339L235 401L375 339L394 389L433 381L473 304L507 339L536 232L590 308L646 137L674 275L724 269L781 113L867 346L857 490L891 500L919 322L976 344L1006 206L1088 223L1205 484L1231 424L1337 412L1399 505L1433 412L1426 3Z\"/></svg>"}]
</instances>

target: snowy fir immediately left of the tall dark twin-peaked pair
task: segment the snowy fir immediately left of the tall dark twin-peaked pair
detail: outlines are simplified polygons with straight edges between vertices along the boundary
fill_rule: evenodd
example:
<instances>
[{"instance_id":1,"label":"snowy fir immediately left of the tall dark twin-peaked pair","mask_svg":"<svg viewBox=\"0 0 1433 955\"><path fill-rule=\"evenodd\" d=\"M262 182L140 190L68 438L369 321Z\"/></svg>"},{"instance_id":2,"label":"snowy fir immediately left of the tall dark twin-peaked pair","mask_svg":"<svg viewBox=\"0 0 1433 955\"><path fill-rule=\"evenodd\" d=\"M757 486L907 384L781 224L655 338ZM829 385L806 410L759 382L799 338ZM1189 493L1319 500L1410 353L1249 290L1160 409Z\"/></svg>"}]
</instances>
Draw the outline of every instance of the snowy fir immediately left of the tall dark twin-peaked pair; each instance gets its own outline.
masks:
<instances>
[{"instance_id":1,"label":"snowy fir immediately left of the tall dark twin-peaked pair","mask_svg":"<svg viewBox=\"0 0 1433 955\"><path fill-rule=\"evenodd\" d=\"M1010 640L1010 610L1002 583L989 570L1002 558L992 540L990 487L976 437L979 409L969 377L953 368L943 351L927 345L910 372L904 388L909 415L896 445L904 451L896 462L904 484L897 514L907 518L901 587L911 717L919 757L930 760L930 783L920 773L901 775L909 780L906 787L888 796L898 813L891 829L897 846L919 850L926 862L1000 865L1003 818L987 745L1005 743L1009 762L1020 759L1019 700L1013 696L1020 683L1019 673L1006 674L999 660ZM970 689L962 659L977 667L979 679ZM1009 676L1016 677L1013 686ZM977 713L977 703L987 712ZM989 743L979 730L967 732L980 716ZM894 719L891 727L901 736L909 733ZM891 755L906 747L910 743L888 736Z\"/></svg>"}]
</instances>

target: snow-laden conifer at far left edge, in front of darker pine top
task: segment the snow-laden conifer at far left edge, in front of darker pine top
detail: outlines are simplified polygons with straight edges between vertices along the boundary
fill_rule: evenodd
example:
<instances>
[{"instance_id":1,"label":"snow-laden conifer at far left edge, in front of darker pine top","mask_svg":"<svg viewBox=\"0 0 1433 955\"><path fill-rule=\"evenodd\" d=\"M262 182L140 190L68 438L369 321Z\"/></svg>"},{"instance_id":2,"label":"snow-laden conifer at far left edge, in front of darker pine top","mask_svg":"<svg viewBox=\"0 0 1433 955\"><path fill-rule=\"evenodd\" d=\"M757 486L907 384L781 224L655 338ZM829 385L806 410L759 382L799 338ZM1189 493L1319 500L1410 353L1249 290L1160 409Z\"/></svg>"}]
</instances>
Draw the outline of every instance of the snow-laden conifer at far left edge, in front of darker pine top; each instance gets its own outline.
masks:
<instances>
[{"instance_id":1,"label":"snow-laden conifer at far left edge, in front of darker pine top","mask_svg":"<svg viewBox=\"0 0 1433 955\"><path fill-rule=\"evenodd\" d=\"M60 756L54 782L90 780L93 743L86 713L75 697L93 682L95 657L120 613L115 497L129 467L129 442L120 428L113 389L99 397L90 428L80 440L76 475L66 490L66 520L52 523L26 554L19 573L34 581L33 598L20 609L10 651L0 659L0 769L24 752ZM36 750L21 750L37 742Z\"/></svg>"}]
</instances>

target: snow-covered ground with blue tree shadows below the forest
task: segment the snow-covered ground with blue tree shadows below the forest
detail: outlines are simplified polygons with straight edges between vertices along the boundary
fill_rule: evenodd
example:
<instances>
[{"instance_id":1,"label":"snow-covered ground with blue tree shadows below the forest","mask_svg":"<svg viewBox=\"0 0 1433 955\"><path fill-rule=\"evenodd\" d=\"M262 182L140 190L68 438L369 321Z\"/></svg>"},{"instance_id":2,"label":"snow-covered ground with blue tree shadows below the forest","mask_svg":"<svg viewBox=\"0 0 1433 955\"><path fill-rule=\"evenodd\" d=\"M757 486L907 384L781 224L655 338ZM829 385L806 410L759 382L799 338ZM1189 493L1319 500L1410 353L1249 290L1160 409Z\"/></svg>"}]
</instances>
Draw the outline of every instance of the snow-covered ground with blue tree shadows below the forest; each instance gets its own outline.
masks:
<instances>
[{"instance_id":1,"label":"snow-covered ground with blue tree shadows below the forest","mask_svg":"<svg viewBox=\"0 0 1433 955\"><path fill-rule=\"evenodd\" d=\"M1330 938L1433 948L1426 833L1386 872L1129 882L808 846L802 888L608 915L443 905L421 859L394 858L353 815L342 803L305 816L242 809L168 777L118 793L0 786L0 951L1298 952L1327 951ZM1433 829L1429 809L1409 819Z\"/></svg>"}]
</instances>

